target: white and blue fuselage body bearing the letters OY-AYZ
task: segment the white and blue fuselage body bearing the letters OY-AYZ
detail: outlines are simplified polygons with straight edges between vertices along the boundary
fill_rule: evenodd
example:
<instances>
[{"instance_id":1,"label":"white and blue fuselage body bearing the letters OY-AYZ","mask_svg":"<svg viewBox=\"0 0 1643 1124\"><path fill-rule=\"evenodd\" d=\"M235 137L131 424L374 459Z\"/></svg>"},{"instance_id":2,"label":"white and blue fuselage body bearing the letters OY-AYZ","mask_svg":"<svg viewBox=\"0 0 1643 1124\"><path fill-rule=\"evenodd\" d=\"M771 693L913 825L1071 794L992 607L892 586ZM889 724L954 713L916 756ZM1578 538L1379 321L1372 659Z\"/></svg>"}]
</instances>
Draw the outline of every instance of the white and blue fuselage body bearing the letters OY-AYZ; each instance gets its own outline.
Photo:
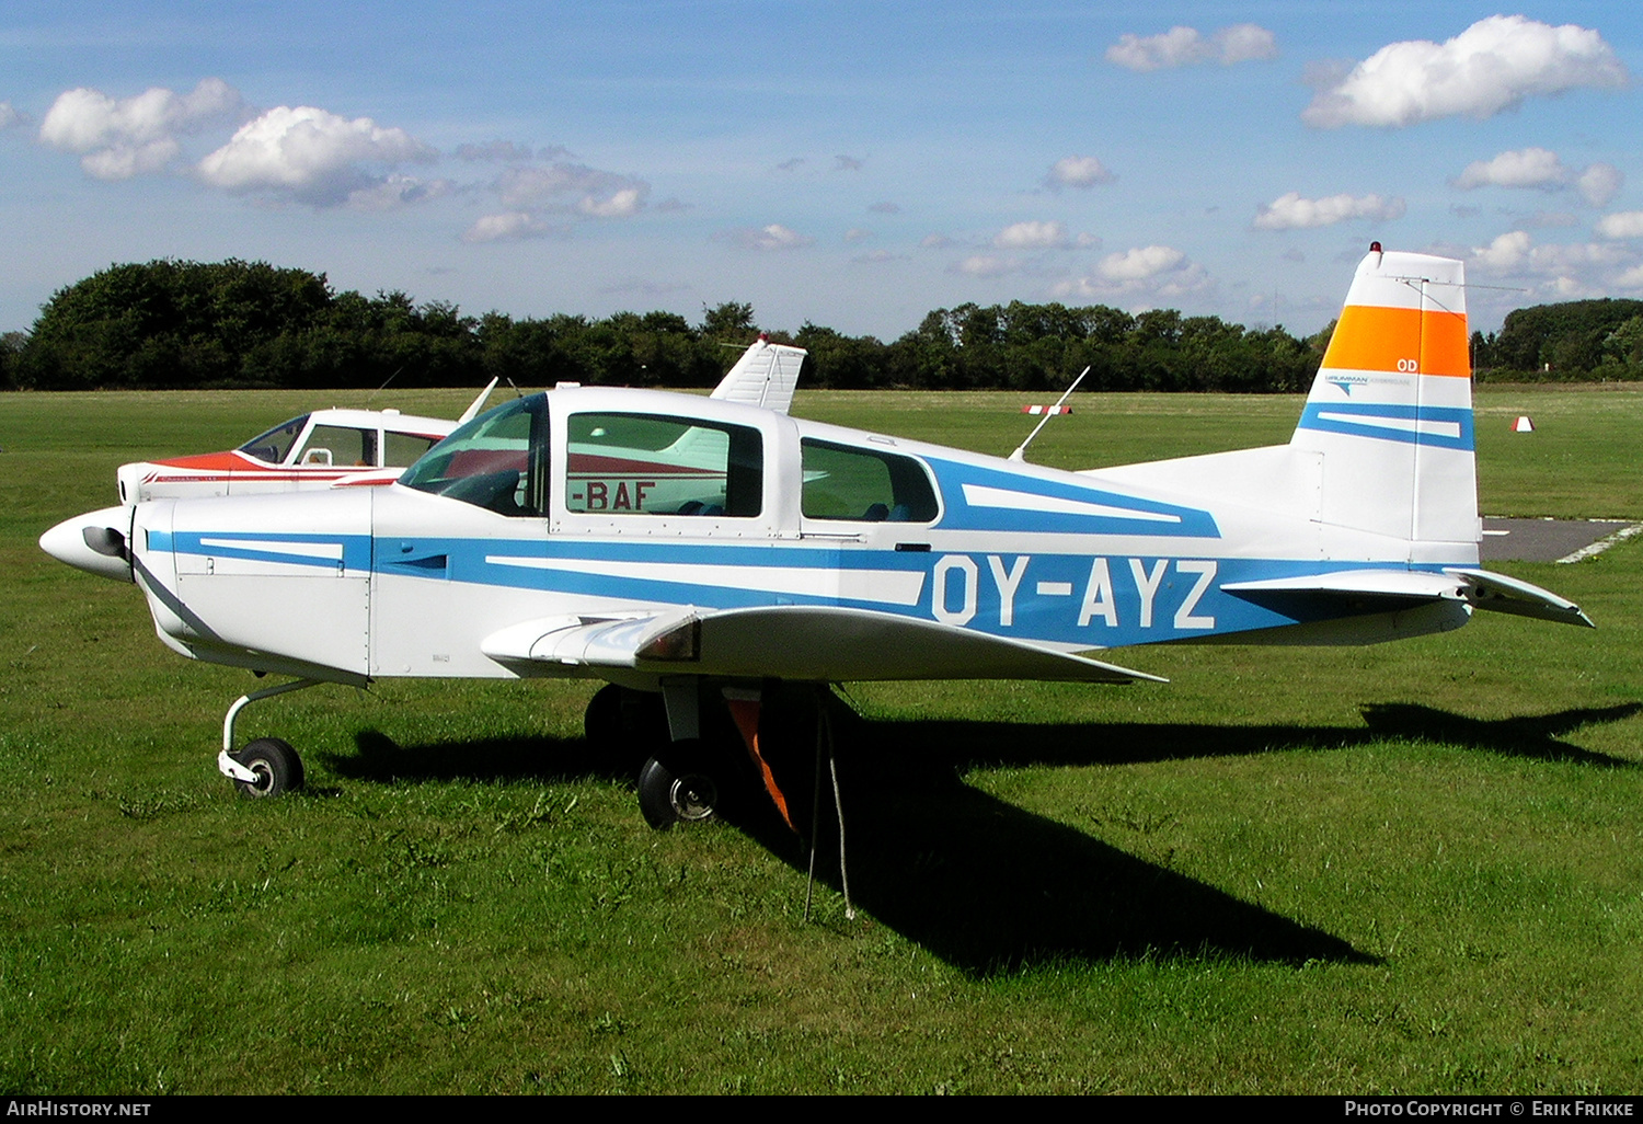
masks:
<instances>
[{"instance_id":1,"label":"white and blue fuselage body bearing the letters OY-AYZ","mask_svg":"<svg viewBox=\"0 0 1643 1124\"><path fill-rule=\"evenodd\" d=\"M562 389L536 401L532 435L452 457L468 458L472 480L506 478L483 495L457 498L465 485L440 480L444 493L393 485L138 504L133 557L161 634L200 659L343 680L605 674L496 659L485 643L521 621L679 606L831 606L1073 652L1306 624L1305 608L1224 587L1339 572L1352 557L1385 567L1388 550L1410 565L1406 544L1308 518L693 396ZM683 429L697 449L672 462L665 447L616 458L572 439L634 421L662 437ZM711 503L690 500L692 488ZM618 496L629 506L613 508ZM1416 569L1475 562L1475 544L1456 544ZM1464 620L1456 603L1411 605L1362 613L1342 636ZM877 677L874 654L859 656L817 677ZM895 677L920 677L918 662L905 652Z\"/></svg>"}]
</instances>

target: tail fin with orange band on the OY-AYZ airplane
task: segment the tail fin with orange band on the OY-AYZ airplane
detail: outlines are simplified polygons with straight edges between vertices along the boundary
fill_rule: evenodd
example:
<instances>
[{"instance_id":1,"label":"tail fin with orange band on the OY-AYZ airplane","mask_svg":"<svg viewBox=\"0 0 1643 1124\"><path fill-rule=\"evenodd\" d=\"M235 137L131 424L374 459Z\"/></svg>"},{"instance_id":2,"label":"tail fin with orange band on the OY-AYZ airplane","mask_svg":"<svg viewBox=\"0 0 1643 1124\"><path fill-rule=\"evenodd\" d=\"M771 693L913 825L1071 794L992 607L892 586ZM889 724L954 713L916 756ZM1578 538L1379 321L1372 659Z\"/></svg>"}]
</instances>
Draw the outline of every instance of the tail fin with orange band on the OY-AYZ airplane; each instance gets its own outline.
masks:
<instances>
[{"instance_id":1,"label":"tail fin with orange band on the OY-AYZ airplane","mask_svg":"<svg viewBox=\"0 0 1643 1124\"><path fill-rule=\"evenodd\" d=\"M1323 454L1319 519L1406 539L1411 562L1477 559L1466 268L1359 265L1291 445Z\"/></svg>"}]
</instances>

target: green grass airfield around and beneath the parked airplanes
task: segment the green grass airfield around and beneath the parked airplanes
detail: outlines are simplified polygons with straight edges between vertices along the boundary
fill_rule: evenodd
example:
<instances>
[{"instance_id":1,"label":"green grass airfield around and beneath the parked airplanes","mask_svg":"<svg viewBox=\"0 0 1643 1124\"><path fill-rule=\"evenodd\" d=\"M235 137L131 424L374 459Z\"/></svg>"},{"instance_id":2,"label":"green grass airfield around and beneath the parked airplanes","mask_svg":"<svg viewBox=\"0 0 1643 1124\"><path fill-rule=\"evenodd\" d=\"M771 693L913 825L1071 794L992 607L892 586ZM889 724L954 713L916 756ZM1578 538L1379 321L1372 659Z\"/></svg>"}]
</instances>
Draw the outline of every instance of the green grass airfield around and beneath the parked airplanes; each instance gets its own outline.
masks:
<instances>
[{"instance_id":1,"label":"green grass airfield around and beneath the parked airplanes","mask_svg":"<svg viewBox=\"0 0 1643 1124\"><path fill-rule=\"evenodd\" d=\"M848 685L851 889L654 833L590 684L271 700L48 559L123 460L363 394L0 396L7 1093L1636 1093L1643 546L1503 565L1597 631L1142 647L1170 685ZM455 414L467 391L375 404ZM1643 393L1484 388L1489 514L1643 518ZM1006 454L1009 394L795 412ZM1084 396L1033 458L1282 442L1293 398ZM1539 432L1508 432L1531 414Z\"/></svg>"}]
</instances>

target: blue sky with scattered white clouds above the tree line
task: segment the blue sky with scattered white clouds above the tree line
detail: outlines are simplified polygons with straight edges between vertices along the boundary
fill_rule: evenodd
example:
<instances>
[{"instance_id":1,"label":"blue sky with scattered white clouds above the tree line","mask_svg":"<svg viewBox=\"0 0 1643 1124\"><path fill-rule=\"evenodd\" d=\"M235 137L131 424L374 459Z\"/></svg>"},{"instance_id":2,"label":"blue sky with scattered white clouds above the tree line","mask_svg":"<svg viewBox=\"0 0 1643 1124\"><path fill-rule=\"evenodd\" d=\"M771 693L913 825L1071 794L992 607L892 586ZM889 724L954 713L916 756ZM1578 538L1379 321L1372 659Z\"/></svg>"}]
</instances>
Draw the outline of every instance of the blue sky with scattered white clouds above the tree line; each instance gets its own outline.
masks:
<instances>
[{"instance_id":1,"label":"blue sky with scattered white clouds above the tree line","mask_svg":"<svg viewBox=\"0 0 1643 1124\"><path fill-rule=\"evenodd\" d=\"M0 13L0 330L115 261L516 317L964 301L1313 332L1352 263L1475 327L1643 297L1628 3L35 3Z\"/></svg>"}]
</instances>

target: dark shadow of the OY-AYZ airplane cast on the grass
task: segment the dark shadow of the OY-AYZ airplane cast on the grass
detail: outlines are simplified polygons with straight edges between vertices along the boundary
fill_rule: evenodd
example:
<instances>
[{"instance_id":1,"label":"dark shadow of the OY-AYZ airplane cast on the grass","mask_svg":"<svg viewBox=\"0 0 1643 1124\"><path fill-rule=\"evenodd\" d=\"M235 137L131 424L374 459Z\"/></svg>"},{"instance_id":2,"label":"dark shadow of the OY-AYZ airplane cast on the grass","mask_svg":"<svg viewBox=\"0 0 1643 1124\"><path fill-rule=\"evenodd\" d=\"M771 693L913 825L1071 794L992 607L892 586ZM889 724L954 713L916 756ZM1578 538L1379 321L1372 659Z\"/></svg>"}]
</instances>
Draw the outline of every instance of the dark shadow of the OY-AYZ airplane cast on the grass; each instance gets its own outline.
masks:
<instances>
[{"instance_id":1,"label":"dark shadow of the OY-AYZ airplane cast on the grass","mask_svg":"<svg viewBox=\"0 0 1643 1124\"><path fill-rule=\"evenodd\" d=\"M1380 703L1365 708L1367 730L1347 730L871 721L840 703L830 715L845 785L849 891L881 924L978 976L1142 956L1380 963L1329 932L997 800L964 784L961 772L983 764L1122 764L1332 749L1385 738L1631 767L1558 738L1640 712L1643 703L1625 703L1480 721ZM772 738L779 753L774 764L795 820L808 830L802 805L808 805L813 784L813 725L802 716L794 723L790 736ZM366 731L358 746L358 754L329 764L340 776L376 782L631 779L636 767L613 762L580 739L398 746ZM795 871L807 869L803 845L762 795L731 805L728 818ZM820 820L818 879L838 891L838 838L826 797Z\"/></svg>"}]
</instances>

